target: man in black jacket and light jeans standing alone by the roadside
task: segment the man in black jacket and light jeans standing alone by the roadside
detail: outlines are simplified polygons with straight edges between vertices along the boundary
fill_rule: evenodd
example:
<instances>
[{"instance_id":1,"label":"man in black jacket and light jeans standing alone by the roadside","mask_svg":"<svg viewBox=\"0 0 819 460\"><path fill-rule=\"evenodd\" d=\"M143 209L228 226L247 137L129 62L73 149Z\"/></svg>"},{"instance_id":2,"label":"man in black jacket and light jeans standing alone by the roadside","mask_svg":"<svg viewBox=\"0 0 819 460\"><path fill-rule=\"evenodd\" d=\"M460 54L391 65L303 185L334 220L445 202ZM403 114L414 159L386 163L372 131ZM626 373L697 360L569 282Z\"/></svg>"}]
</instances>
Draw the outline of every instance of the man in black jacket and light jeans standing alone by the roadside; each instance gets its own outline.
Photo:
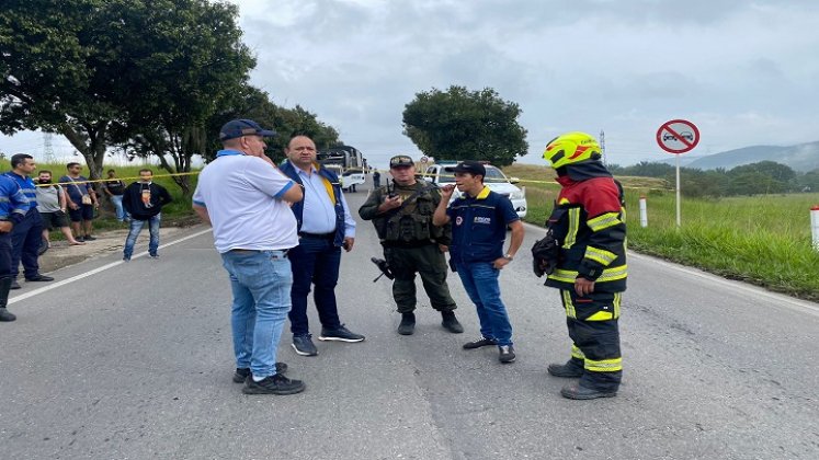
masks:
<instances>
[{"instance_id":1,"label":"man in black jacket and light jeans standing alone by the roadside","mask_svg":"<svg viewBox=\"0 0 819 460\"><path fill-rule=\"evenodd\" d=\"M159 221L161 220L162 206L171 203L171 195L168 191L152 182L153 171L140 170L139 182L135 182L125 188L123 194L123 206L130 216L130 231L125 239L125 249L123 250L123 261L130 261L134 254L134 244L136 243L143 226L148 222L150 231L150 242L148 243L148 253L151 258L159 257Z\"/></svg>"}]
</instances>

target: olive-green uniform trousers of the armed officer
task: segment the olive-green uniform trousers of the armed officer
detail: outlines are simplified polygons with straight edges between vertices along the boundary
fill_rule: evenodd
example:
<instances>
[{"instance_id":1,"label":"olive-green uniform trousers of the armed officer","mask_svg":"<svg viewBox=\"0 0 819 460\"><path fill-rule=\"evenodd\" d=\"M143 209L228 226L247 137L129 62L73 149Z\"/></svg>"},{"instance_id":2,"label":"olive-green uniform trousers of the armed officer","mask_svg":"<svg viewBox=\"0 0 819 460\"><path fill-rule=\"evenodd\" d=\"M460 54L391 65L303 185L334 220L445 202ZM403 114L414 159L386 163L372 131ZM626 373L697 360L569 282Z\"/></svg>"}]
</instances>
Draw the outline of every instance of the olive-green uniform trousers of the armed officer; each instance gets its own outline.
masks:
<instances>
[{"instance_id":1,"label":"olive-green uniform trousers of the armed officer","mask_svg":"<svg viewBox=\"0 0 819 460\"><path fill-rule=\"evenodd\" d=\"M393 280L393 298L399 313L416 309L416 273L421 275L423 289L432 308L437 311L455 310L455 301L446 285L446 258L437 244L420 248L384 248L384 258L396 276Z\"/></svg>"}]
</instances>

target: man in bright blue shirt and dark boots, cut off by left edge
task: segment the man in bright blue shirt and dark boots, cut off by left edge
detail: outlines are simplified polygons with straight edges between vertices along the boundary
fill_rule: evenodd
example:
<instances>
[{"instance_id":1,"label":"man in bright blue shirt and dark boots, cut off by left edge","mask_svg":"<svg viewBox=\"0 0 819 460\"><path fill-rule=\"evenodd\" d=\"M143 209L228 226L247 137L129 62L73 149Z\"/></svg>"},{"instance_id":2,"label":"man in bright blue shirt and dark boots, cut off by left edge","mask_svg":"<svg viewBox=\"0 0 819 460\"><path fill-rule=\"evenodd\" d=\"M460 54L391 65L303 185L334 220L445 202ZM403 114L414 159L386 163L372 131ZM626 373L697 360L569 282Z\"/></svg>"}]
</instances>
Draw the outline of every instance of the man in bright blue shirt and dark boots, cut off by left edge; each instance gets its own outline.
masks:
<instances>
[{"instance_id":1,"label":"man in bright blue shirt and dark boots, cut off by left edge","mask_svg":"<svg viewBox=\"0 0 819 460\"><path fill-rule=\"evenodd\" d=\"M0 322L16 320L9 313L9 290L11 289L11 232L15 222L23 220L29 211L29 199L16 181L0 174Z\"/></svg>"}]
</instances>

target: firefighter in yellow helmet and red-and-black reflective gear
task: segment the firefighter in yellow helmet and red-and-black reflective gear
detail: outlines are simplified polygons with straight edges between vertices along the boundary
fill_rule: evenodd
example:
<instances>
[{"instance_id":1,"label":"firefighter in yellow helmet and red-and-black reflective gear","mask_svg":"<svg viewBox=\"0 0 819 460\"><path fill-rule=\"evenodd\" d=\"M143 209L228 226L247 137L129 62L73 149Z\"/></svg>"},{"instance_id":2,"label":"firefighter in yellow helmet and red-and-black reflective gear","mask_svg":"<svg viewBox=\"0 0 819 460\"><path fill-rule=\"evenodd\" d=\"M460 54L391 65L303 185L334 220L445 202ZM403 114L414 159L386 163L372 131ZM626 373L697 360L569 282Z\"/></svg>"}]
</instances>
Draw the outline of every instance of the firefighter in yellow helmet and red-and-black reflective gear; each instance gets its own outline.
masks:
<instances>
[{"instance_id":1,"label":"firefighter in yellow helmet and red-and-black reflective gear","mask_svg":"<svg viewBox=\"0 0 819 460\"><path fill-rule=\"evenodd\" d=\"M543 158L561 189L547 221L554 260L542 261L546 286L560 290L571 337L571 358L548 366L555 377L580 378L560 394L572 400L617 394L623 375L617 319L626 290L626 223L623 188L601 161L598 141L568 133L546 146ZM537 272L537 267L536 272Z\"/></svg>"}]
</instances>

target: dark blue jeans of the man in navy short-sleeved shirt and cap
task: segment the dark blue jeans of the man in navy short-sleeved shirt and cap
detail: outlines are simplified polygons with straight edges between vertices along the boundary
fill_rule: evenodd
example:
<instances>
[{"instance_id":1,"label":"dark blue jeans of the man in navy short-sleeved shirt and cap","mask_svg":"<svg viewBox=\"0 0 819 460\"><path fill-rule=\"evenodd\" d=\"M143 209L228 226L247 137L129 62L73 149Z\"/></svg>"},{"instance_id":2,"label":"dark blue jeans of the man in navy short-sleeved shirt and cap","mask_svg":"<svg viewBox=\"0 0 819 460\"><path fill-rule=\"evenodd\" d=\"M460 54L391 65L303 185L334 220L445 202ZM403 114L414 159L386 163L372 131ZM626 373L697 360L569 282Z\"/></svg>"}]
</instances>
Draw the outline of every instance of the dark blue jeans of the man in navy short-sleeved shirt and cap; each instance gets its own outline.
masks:
<instances>
[{"instance_id":1,"label":"dark blue jeans of the man in navy short-sleeved shirt and cap","mask_svg":"<svg viewBox=\"0 0 819 460\"><path fill-rule=\"evenodd\" d=\"M481 335L494 338L498 345L512 345L512 324L500 298L500 271L491 262L456 264L455 268L478 311Z\"/></svg>"}]
</instances>

